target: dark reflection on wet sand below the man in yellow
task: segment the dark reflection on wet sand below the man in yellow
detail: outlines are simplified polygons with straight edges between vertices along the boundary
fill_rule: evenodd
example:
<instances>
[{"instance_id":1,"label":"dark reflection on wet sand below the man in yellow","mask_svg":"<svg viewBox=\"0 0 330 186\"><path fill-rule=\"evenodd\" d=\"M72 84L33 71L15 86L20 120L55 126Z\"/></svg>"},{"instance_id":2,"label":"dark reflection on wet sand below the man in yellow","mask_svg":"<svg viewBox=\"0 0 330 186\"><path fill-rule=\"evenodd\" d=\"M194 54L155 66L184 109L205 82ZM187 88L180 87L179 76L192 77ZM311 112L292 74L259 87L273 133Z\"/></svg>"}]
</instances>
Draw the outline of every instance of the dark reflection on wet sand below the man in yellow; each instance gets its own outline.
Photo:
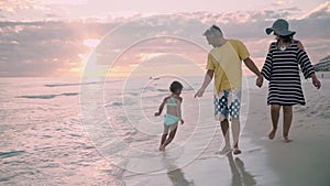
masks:
<instances>
[{"instance_id":1,"label":"dark reflection on wet sand below the man in yellow","mask_svg":"<svg viewBox=\"0 0 330 186\"><path fill-rule=\"evenodd\" d=\"M254 176L245 171L244 163L239 157L233 160L232 154L228 155L229 166L232 173L231 186L256 185Z\"/></svg>"}]
</instances>

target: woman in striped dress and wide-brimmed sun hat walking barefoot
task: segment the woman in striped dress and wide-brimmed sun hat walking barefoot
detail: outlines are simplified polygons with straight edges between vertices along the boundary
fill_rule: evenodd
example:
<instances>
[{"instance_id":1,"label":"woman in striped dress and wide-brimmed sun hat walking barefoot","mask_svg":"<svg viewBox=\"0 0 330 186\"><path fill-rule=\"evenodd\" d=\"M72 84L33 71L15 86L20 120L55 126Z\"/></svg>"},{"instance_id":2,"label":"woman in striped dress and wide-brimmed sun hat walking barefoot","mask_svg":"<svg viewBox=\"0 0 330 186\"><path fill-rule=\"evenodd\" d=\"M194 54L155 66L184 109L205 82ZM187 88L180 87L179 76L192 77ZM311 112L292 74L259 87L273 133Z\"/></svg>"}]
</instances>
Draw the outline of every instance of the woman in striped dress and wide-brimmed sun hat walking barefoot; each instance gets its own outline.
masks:
<instances>
[{"instance_id":1,"label":"woman in striped dress and wide-brimmed sun hat walking barefoot","mask_svg":"<svg viewBox=\"0 0 330 186\"><path fill-rule=\"evenodd\" d=\"M272 28L266 29L266 33L274 32L276 42L270 45L270 51L262 68L262 75L270 81L267 105L271 105L271 117L273 129L268 138L274 139L279 110L283 108L283 136L284 142L290 142L288 138L293 119L293 106L305 105L305 98L301 89L299 67L304 77L312 78L316 88L321 84L316 77L309 57L304 50L301 42L293 40L296 33L288 30L287 21L278 19Z\"/></svg>"}]
</instances>

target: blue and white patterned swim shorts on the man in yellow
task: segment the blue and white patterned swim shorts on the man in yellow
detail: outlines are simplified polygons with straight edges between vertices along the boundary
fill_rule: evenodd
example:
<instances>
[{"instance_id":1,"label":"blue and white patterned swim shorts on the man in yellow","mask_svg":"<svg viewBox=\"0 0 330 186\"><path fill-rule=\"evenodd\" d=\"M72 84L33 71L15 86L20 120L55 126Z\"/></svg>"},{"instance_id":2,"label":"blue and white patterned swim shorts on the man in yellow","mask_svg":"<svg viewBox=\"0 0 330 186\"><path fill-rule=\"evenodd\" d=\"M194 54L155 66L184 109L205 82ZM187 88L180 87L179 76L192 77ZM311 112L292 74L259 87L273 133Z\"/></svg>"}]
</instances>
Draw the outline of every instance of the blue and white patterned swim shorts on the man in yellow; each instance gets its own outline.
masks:
<instances>
[{"instance_id":1,"label":"blue and white patterned swim shorts on the man in yellow","mask_svg":"<svg viewBox=\"0 0 330 186\"><path fill-rule=\"evenodd\" d=\"M222 90L215 94L215 118L216 120L222 121L228 119L240 118L241 109L241 89Z\"/></svg>"}]
</instances>

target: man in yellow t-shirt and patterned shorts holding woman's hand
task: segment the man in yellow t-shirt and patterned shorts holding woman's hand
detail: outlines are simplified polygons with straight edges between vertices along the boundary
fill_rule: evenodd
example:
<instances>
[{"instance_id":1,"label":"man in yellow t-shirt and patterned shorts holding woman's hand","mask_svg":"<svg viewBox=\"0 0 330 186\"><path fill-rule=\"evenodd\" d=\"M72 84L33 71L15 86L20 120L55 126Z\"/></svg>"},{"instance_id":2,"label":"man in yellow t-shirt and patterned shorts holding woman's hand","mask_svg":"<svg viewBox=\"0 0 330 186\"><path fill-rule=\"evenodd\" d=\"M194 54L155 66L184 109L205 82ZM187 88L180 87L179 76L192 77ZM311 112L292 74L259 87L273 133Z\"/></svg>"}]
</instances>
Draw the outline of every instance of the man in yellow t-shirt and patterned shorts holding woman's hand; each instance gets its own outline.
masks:
<instances>
[{"instance_id":1,"label":"man in yellow t-shirt and patterned shorts holding woman's hand","mask_svg":"<svg viewBox=\"0 0 330 186\"><path fill-rule=\"evenodd\" d=\"M217 25L209 28L204 35L213 48L208 55L207 73L201 88L195 97L202 97L205 89L215 76L215 117L220 121L226 145L220 154L231 152L229 138L229 116L233 135L233 154L240 154L240 108L242 88L242 61L256 76L256 85L263 84L263 76L250 58L245 45L238 40L226 40Z\"/></svg>"}]
</instances>

